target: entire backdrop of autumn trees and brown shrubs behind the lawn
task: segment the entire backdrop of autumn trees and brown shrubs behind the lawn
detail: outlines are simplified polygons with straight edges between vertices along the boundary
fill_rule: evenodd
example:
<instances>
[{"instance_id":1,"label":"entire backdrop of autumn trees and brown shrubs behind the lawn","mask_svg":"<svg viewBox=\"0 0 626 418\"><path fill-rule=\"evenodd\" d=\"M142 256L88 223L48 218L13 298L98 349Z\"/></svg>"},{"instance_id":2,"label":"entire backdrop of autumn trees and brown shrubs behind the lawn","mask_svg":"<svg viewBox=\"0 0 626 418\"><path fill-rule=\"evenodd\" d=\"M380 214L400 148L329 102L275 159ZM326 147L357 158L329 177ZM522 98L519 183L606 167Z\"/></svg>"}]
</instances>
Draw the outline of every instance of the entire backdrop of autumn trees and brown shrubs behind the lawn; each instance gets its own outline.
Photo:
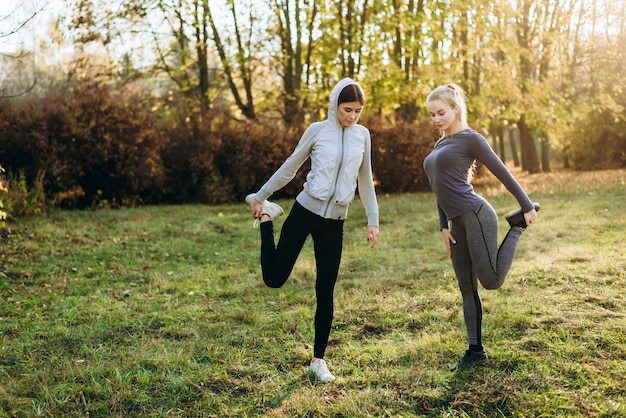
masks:
<instances>
[{"instance_id":1,"label":"entire backdrop of autumn trees and brown shrubs behind the lawn","mask_svg":"<svg viewBox=\"0 0 626 418\"><path fill-rule=\"evenodd\" d=\"M424 97L450 81L469 94L473 127L519 128L527 170L539 167L535 140L571 167L626 160L625 11L607 0L123 3L68 1L71 13L33 35L46 34L32 62L56 65L38 66L30 94L0 102L0 163L26 190L45 172L53 206L241 200L324 117L344 76L367 92L386 192L426 187ZM65 50L67 65L54 55ZM23 53L0 54L0 96L31 86Z\"/></svg>"}]
</instances>

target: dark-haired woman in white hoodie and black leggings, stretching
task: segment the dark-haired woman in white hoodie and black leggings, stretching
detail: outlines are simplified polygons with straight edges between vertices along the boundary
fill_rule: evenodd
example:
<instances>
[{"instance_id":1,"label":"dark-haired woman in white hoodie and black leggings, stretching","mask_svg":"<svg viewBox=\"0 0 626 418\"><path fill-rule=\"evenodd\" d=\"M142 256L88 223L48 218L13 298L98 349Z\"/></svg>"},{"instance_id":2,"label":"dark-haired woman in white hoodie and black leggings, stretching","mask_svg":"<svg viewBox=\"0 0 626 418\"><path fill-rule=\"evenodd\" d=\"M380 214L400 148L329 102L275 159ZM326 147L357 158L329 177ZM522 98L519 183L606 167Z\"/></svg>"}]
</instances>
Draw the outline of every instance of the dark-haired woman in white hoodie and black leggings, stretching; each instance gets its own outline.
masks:
<instances>
[{"instance_id":1,"label":"dark-haired woman in white hoodie and black leggings, stretching","mask_svg":"<svg viewBox=\"0 0 626 418\"><path fill-rule=\"evenodd\" d=\"M260 221L261 269L267 286L279 288L287 281L306 238L309 235L313 238L317 309L309 369L322 382L335 379L328 371L324 354L333 320L343 223L357 186L367 216L367 239L372 247L378 240L370 133L358 124L364 104L365 95L359 84L350 78L339 81L330 94L328 118L312 123L291 156L258 192L246 197L252 216ZM289 183L309 158L311 171L283 224L276 246L272 221L283 210L267 199Z\"/></svg>"}]
</instances>

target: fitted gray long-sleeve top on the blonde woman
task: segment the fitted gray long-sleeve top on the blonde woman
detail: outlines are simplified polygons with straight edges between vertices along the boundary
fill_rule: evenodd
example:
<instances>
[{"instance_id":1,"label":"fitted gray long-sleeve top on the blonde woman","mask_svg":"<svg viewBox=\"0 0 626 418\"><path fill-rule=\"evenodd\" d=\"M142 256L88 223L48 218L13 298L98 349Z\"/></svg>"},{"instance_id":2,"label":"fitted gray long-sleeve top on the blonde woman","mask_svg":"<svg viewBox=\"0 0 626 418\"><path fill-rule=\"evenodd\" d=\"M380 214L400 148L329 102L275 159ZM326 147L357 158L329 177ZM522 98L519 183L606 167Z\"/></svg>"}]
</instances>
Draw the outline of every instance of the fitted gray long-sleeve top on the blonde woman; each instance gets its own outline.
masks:
<instances>
[{"instance_id":1,"label":"fitted gray long-sleeve top on the blonde woman","mask_svg":"<svg viewBox=\"0 0 626 418\"><path fill-rule=\"evenodd\" d=\"M502 182L524 212L534 208L526 192L485 137L472 129L464 129L438 140L424 159L424 170L437 198L440 229L448 228L450 219L477 209L485 202L469 181L469 169L475 160L484 164Z\"/></svg>"}]
</instances>

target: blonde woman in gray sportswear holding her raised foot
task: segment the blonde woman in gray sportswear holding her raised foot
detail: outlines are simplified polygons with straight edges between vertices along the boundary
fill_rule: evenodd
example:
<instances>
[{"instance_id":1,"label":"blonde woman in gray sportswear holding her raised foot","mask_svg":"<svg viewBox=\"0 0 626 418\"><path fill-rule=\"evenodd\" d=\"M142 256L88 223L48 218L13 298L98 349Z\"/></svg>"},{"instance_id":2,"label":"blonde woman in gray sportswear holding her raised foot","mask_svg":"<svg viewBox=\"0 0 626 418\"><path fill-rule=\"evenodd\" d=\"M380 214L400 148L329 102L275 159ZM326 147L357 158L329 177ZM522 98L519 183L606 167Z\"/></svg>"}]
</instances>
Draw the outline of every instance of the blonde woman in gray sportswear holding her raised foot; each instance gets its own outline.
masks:
<instances>
[{"instance_id":1,"label":"blonde woman in gray sportswear holding her raised foot","mask_svg":"<svg viewBox=\"0 0 626 418\"><path fill-rule=\"evenodd\" d=\"M487 140L469 127L465 94L458 85L440 86L426 101L441 138L424 160L424 169L437 198L439 228L463 299L469 347L456 367L465 368L487 360L478 281L485 289L502 286L522 232L537 219L539 204L530 200ZM511 229L499 246L496 212L471 184L476 161L504 184L521 207L506 216Z\"/></svg>"}]
</instances>

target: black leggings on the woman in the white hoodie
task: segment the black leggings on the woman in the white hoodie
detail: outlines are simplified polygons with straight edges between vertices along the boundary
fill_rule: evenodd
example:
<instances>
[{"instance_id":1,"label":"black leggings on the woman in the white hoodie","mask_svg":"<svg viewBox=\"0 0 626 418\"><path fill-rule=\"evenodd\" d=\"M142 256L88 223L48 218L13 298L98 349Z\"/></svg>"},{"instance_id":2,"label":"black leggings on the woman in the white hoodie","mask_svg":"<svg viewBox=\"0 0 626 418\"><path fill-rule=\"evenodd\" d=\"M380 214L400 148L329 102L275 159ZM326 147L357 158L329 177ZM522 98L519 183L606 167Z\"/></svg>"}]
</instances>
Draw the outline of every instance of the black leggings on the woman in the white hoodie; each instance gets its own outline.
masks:
<instances>
[{"instance_id":1,"label":"black leggings on the woman in the white hoodie","mask_svg":"<svg viewBox=\"0 0 626 418\"><path fill-rule=\"evenodd\" d=\"M278 246L274 244L273 222L262 222L260 226L263 281L272 288L285 284L306 238L313 237L317 268L313 356L317 358L324 358L333 322L333 293L341 262L343 222L322 218L295 202L283 224Z\"/></svg>"}]
</instances>

